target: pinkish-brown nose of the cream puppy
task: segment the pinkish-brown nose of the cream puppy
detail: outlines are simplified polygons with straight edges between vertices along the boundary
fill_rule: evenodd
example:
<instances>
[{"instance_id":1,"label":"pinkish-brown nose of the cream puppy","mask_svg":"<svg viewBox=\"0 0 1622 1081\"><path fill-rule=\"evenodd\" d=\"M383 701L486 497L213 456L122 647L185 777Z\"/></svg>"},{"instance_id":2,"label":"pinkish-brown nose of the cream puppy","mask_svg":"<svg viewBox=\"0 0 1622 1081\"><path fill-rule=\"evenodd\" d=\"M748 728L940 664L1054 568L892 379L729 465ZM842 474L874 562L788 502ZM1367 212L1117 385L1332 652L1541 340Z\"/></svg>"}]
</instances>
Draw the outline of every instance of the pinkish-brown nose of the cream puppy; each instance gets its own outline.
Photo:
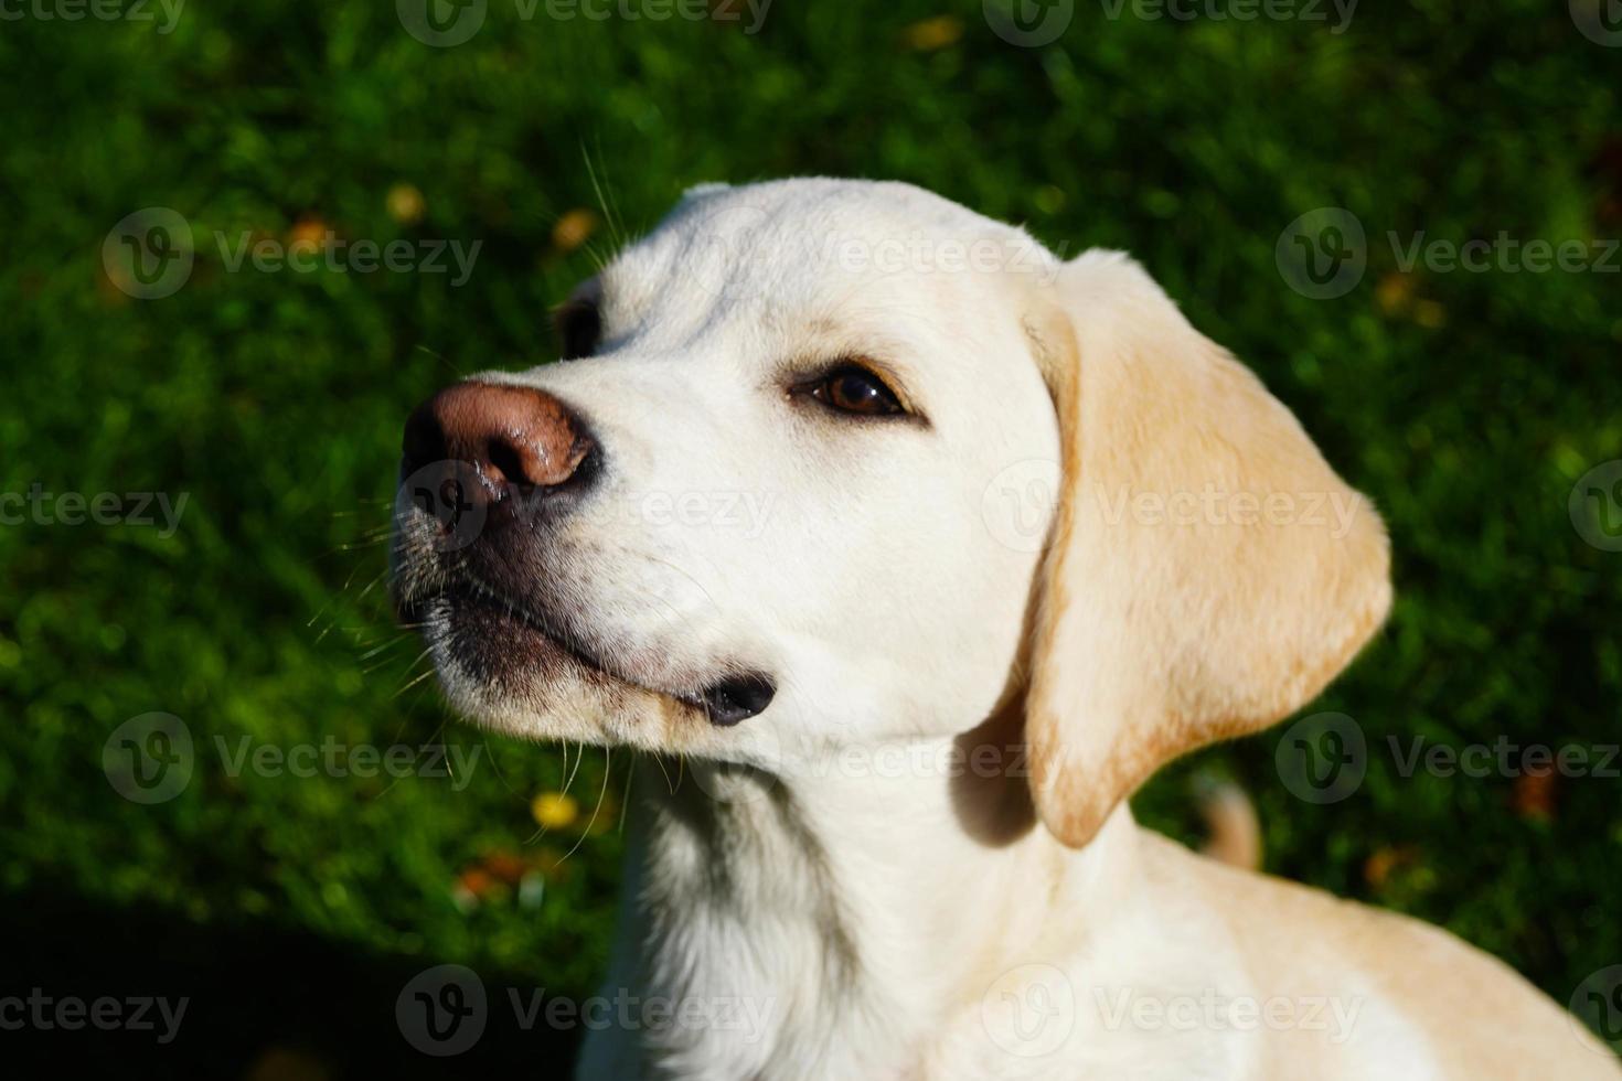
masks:
<instances>
[{"instance_id":1,"label":"pinkish-brown nose of the cream puppy","mask_svg":"<svg viewBox=\"0 0 1622 1081\"><path fill-rule=\"evenodd\" d=\"M406 473L438 462L472 467L470 498L501 502L517 493L582 488L599 451L568 405L534 387L457 382L423 402L406 421Z\"/></svg>"}]
</instances>

